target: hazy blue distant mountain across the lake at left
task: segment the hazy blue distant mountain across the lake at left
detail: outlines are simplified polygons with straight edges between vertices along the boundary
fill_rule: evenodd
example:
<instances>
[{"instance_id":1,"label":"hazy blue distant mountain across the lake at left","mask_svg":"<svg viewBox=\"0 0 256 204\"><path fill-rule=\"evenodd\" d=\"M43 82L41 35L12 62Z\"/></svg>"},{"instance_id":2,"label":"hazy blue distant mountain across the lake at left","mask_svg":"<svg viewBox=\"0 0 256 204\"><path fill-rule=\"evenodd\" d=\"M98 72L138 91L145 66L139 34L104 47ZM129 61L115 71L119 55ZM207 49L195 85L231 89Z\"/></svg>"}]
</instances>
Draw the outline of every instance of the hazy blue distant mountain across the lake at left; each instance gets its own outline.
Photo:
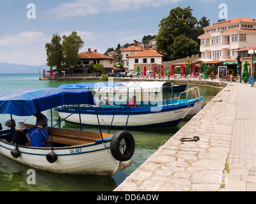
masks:
<instances>
[{"instance_id":1,"label":"hazy blue distant mountain across the lake at left","mask_svg":"<svg viewBox=\"0 0 256 204\"><path fill-rule=\"evenodd\" d=\"M0 73L43 73L43 69L45 71L49 71L49 67L46 64L31 66L24 64L10 64L5 62L0 62Z\"/></svg>"}]
</instances>

